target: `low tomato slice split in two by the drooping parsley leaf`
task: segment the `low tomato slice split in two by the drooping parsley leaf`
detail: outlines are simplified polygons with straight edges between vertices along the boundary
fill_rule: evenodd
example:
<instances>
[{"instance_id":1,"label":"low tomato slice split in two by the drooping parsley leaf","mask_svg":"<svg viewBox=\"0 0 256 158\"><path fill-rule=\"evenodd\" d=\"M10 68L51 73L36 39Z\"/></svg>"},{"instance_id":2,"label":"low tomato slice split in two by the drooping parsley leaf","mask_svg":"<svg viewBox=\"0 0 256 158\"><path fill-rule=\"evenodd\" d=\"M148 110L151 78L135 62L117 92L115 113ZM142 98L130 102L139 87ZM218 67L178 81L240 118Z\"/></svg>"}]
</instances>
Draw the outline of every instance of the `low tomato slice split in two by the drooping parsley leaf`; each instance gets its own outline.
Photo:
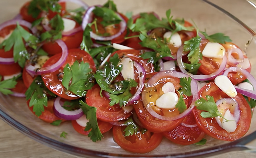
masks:
<instances>
[{"instance_id":1,"label":"low tomato slice split in two by the drooping parsley leaf","mask_svg":"<svg viewBox=\"0 0 256 158\"><path fill-rule=\"evenodd\" d=\"M82 127L79 124L77 124L76 120L72 120L71 122L72 122L72 126L75 129L75 131L80 133L80 134L83 134L83 135L87 136L89 134L89 132L91 131L91 130L85 131L85 127ZM101 121L101 120L98 120L98 125L99 125L100 132L102 134L111 130L112 127L113 127L113 125L111 125L110 123L104 122L104 121Z\"/></svg>"}]
</instances>

